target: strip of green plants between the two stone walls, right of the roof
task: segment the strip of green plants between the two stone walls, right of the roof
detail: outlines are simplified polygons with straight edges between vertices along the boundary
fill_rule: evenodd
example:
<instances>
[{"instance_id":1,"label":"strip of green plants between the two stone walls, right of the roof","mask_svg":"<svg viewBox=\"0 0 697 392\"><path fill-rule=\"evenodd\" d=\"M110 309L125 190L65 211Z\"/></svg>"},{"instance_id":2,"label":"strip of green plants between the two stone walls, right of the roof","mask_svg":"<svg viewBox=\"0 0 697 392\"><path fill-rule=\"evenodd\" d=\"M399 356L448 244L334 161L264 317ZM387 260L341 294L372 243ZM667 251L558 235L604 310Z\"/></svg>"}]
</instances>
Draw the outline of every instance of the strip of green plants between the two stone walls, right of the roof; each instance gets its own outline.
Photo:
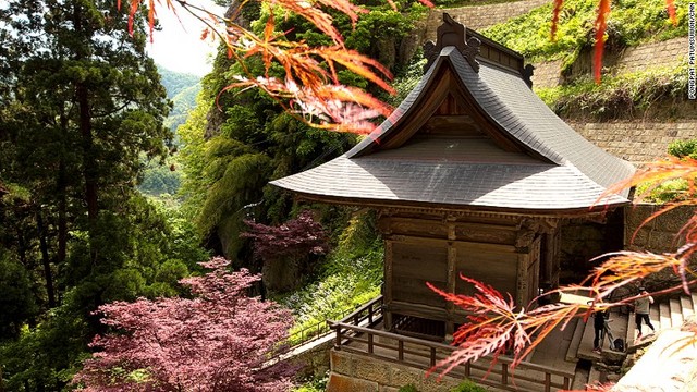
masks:
<instances>
[{"instance_id":1,"label":"strip of green plants between the two stone walls, right of the roof","mask_svg":"<svg viewBox=\"0 0 697 392\"><path fill-rule=\"evenodd\" d=\"M564 118L599 120L633 118L658 101L685 99L686 64L603 77L598 85L590 78L570 85L537 89L537 95ZM670 117L670 112L662 115Z\"/></svg>"}]
</instances>

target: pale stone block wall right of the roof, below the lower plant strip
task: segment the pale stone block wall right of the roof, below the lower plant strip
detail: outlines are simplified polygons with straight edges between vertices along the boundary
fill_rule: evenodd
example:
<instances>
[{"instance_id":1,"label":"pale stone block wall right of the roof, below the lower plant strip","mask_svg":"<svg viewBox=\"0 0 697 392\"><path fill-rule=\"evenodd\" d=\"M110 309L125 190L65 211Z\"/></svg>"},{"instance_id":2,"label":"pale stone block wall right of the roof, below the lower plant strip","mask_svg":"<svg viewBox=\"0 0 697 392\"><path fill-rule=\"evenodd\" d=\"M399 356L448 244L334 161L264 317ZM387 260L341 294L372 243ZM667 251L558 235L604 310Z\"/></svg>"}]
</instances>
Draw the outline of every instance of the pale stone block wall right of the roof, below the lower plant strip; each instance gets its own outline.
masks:
<instances>
[{"instance_id":1,"label":"pale stone block wall right of the roof, below the lower plant strip","mask_svg":"<svg viewBox=\"0 0 697 392\"><path fill-rule=\"evenodd\" d=\"M568 124L596 146L636 164L664 157L671 142L697 138L697 120Z\"/></svg>"}]
</instances>

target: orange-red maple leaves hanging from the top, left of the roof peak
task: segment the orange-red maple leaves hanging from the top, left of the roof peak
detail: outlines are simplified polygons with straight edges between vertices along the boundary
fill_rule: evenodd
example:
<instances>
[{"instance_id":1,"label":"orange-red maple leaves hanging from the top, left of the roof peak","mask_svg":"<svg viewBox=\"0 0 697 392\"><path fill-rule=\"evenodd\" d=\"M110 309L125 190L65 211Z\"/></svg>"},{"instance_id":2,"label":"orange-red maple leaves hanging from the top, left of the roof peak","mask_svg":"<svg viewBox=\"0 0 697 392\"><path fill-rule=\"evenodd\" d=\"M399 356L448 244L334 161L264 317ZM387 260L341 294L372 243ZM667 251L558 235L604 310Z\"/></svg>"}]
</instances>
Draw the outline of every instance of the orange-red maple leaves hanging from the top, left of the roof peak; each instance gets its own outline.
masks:
<instances>
[{"instance_id":1,"label":"orange-red maple leaves hanging from the top, left of the roof peak","mask_svg":"<svg viewBox=\"0 0 697 392\"><path fill-rule=\"evenodd\" d=\"M211 33L221 38L228 47L229 58L237 60L242 68L240 82L231 84L224 91L260 88L285 110L308 124L333 131L369 133L375 127L370 123L371 119L390 114L390 106L357 88L343 86L339 81L338 70L347 70L389 94L394 94L394 89L387 82L392 78L389 70L371 58L346 49L343 37L333 25L333 17L326 11L331 9L341 12L355 24L359 15L368 11L348 0L261 1L269 5L269 17L260 35L236 24L233 17L248 1L242 1L229 17L216 15L180 0L130 1L131 30L133 16L138 7L147 5L148 25L152 28L157 15L155 8L166 3L171 11L174 11L174 4L178 4L201 21L206 25L201 39ZM420 2L430 4L427 0ZM330 37L333 45L310 47L302 41L285 39L285 33L276 30L277 16L284 13L294 13L309 21ZM250 57L261 59L265 68L262 77L250 74L246 69L244 59ZM283 81L270 77L270 70L277 64L284 70Z\"/></svg>"}]
</instances>

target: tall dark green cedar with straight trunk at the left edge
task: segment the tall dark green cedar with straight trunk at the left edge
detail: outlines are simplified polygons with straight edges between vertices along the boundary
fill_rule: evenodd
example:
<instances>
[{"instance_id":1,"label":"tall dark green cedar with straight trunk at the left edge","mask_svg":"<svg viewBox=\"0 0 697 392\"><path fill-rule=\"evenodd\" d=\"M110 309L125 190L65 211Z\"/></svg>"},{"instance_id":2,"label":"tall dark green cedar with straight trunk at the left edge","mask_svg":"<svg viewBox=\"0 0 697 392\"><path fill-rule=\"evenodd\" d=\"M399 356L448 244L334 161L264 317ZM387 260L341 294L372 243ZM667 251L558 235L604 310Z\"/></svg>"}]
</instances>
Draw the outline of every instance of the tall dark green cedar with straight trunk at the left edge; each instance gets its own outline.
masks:
<instances>
[{"instance_id":1,"label":"tall dark green cedar with straight trunk at the left edge","mask_svg":"<svg viewBox=\"0 0 697 392\"><path fill-rule=\"evenodd\" d=\"M145 34L130 37L112 1L10 0L0 17L10 48L0 52L10 72L0 175L32 195L10 212L16 226L3 243L39 249L52 307L56 268L64 284L114 268L100 249L112 241L100 213L124 206L142 154L166 154L169 106ZM66 266L71 231L87 234L88 257Z\"/></svg>"}]
</instances>

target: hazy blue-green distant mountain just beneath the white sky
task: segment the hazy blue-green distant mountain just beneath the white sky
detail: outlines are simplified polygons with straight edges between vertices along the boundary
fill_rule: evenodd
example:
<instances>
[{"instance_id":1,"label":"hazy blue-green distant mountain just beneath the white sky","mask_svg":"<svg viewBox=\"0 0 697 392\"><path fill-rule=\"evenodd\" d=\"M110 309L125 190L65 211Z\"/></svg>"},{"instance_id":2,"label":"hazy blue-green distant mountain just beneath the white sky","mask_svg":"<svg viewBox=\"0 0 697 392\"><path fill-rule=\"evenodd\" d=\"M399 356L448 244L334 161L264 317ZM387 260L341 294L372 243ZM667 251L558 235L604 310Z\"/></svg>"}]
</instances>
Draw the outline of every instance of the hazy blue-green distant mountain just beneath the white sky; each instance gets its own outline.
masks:
<instances>
[{"instance_id":1,"label":"hazy blue-green distant mountain just beneath the white sky","mask_svg":"<svg viewBox=\"0 0 697 392\"><path fill-rule=\"evenodd\" d=\"M164 125L176 131L176 127L186 121L188 112L196 107L196 96L200 91L201 77L170 71L161 65L158 65L157 70L162 77L162 85L167 89L167 97L174 103Z\"/></svg>"}]
</instances>

